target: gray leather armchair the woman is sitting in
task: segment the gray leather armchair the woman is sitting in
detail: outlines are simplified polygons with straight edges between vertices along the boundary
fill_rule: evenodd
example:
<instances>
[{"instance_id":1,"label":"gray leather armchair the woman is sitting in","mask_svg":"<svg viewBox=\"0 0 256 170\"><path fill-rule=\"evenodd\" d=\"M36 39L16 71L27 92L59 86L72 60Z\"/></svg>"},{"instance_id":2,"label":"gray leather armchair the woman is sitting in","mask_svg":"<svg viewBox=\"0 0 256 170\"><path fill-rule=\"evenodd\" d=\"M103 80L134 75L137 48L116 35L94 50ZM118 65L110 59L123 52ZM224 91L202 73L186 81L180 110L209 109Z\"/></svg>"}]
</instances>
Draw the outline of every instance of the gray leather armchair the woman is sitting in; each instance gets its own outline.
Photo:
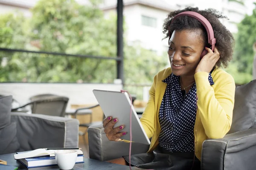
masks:
<instances>
[{"instance_id":1,"label":"gray leather armchair the woman is sitting in","mask_svg":"<svg viewBox=\"0 0 256 170\"><path fill-rule=\"evenodd\" d=\"M222 139L203 143L202 170L256 169L256 80L236 87L233 122ZM129 143L109 141L102 125L88 128L89 156L100 161L129 154ZM145 153L148 145L133 143L132 154Z\"/></svg>"}]
</instances>

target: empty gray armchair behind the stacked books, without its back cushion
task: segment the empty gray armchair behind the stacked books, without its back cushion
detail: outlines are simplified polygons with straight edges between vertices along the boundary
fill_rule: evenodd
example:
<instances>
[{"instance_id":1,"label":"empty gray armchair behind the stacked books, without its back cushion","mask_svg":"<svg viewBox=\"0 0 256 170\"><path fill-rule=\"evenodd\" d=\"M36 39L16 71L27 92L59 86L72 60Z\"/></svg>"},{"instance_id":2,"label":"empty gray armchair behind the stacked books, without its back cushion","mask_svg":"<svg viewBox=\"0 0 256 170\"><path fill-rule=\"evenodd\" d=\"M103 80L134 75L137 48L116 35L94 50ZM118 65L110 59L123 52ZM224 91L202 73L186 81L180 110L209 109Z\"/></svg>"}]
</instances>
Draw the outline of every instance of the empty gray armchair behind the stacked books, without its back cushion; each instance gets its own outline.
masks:
<instances>
[{"instance_id":1,"label":"empty gray armchair behind the stacked books, without its back cushion","mask_svg":"<svg viewBox=\"0 0 256 170\"><path fill-rule=\"evenodd\" d=\"M8 113L6 117L7 124L0 128L0 154L47 147L78 147L77 119L21 112Z\"/></svg>"}]
</instances>

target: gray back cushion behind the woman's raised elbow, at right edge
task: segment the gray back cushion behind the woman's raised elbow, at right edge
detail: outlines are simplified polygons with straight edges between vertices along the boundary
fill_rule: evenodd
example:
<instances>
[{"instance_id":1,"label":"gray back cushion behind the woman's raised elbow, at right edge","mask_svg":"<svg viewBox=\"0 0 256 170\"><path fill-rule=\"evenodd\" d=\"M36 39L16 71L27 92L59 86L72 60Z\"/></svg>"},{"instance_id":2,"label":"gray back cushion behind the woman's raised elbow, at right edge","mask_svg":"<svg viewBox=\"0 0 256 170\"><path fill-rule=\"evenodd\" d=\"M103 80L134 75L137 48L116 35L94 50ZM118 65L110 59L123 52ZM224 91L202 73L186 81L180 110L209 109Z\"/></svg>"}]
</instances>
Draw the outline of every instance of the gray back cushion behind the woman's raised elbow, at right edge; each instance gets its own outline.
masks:
<instances>
[{"instance_id":1,"label":"gray back cushion behind the woman's raised elbow, at right edge","mask_svg":"<svg viewBox=\"0 0 256 170\"><path fill-rule=\"evenodd\" d=\"M236 87L233 120L228 133L247 130L256 121L256 80ZM256 124L255 124L256 125Z\"/></svg>"}]
</instances>

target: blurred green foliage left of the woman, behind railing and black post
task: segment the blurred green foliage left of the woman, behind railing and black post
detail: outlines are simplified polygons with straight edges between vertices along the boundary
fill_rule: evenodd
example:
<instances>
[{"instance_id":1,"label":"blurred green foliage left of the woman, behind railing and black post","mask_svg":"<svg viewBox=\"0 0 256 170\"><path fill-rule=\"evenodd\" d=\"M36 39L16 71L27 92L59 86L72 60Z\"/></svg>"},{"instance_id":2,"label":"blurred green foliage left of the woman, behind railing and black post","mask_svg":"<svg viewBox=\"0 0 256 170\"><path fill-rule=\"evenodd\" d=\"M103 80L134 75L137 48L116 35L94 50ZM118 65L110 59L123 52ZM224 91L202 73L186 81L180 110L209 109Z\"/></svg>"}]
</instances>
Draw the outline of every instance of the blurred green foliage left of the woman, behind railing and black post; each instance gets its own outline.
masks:
<instances>
[{"instance_id":1,"label":"blurred green foliage left of the woman, behind railing and black post","mask_svg":"<svg viewBox=\"0 0 256 170\"><path fill-rule=\"evenodd\" d=\"M116 57L116 15L105 19L97 5L40 0L32 17L0 17L0 47ZM126 83L151 83L166 59L141 47L124 46ZM102 82L116 78L116 61L34 53L0 53L0 82Z\"/></svg>"}]
</instances>

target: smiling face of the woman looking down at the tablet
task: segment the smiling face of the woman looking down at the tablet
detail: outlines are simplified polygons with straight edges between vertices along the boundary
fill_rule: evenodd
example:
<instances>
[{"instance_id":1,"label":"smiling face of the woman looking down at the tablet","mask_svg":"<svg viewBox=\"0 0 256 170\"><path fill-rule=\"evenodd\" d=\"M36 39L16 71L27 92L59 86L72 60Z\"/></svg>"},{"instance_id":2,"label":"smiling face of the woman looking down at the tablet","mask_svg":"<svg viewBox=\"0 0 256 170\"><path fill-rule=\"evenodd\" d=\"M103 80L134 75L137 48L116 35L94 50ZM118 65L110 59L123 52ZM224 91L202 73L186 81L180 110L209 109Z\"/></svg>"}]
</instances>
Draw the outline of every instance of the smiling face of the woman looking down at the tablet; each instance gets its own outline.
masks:
<instances>
[{"instance_id":1,"label":"smiling face of the woman looking down at the tablet","mask_svg":"<svg viewBox=\"0 0 256 170\"><path fill-rule=\"evenodd\" d=\"M173 31L169 40L168 55L172 72L176 76L195 74L204 49L202 33L201 29Z\"/></svg>"}]
</instances>

